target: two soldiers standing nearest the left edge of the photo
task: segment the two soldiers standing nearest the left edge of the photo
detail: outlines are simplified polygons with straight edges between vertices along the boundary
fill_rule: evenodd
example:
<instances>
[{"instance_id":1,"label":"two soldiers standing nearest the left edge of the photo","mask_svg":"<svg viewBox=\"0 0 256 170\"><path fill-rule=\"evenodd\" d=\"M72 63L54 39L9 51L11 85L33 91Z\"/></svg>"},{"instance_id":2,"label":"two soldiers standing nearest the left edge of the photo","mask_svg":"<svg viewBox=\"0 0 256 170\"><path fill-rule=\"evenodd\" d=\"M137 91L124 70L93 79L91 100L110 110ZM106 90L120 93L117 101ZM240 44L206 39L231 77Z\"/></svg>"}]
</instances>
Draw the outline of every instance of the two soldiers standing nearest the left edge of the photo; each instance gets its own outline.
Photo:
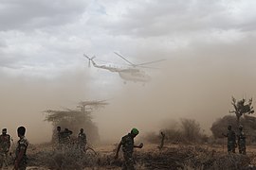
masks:
<instances>
[{"instance_id":1,"label":"two soldiers standing nearest the left edge of the photo","mask_svg":"<svg viewBox=\"0 0 256 170\"><path fill-rule=\"evenodd\" d=\"M26 127L18 127L17 135L19 141L16 145L15 158L14 161L14 170L25 170L27 167L27 139L25 137ZM10 136L7 133L7 128L2 129L2 134L0 135L0 168L4 165L8 167L8 153L10 147Z\"/></svg>"}]
</instances>

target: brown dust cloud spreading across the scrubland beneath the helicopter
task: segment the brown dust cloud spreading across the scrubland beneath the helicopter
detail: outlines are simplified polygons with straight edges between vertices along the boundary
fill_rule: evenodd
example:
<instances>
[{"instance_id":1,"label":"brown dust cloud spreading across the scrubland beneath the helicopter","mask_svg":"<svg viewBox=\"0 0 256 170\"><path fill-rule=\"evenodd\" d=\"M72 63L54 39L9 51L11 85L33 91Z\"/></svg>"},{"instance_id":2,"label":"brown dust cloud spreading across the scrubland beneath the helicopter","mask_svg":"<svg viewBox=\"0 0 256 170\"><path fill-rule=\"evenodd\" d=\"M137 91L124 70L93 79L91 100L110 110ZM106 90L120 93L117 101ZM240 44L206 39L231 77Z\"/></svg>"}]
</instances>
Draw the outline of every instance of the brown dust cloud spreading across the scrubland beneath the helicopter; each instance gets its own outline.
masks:
<instances>
[{"instance_id":1,"label":"brown dust cloud spreading across the scrubland beneath the helicopter","mask_svg":"<svg viewBox=\"0 0 256 170\"><path fill-rule=\"evenodd\" d=\"M15 140L16 127L23 125L31 143L48 142L52 126L44 121L44 110L75 109L82 100L108 99L109 105L92 115L103 142L118 142L132 127L143 135L184 117L196 119L210 134L212 122L229 113L232 95L255 97L255 49L241 48L243 43L194 44L161 53L157 58L167 60L161 69L148 71L153 80L146 84L123 84L118 74L82 64L52 78L1 73L0 126L8 127Z\"/></svg>"}]
</instances>

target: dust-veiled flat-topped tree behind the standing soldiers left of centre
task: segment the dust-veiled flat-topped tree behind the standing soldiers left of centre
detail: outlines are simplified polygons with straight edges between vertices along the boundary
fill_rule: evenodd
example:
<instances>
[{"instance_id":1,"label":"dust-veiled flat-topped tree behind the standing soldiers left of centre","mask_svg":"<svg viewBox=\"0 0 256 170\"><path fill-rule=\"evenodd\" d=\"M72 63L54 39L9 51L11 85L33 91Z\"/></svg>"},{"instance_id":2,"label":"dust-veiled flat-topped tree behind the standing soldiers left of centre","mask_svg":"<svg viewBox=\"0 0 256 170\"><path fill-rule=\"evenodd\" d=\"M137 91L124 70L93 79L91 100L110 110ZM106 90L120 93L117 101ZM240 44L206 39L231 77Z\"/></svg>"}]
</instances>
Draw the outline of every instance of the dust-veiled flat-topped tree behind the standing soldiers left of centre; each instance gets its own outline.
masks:
<instances>
[{"instance_id":1,"label":"dust-veiled flat-topped tree behind the standing soldiers left of centre","mask_svg":"<svg viewBox=\"0 0 256 170\"><path fill-rule=\"evenodd\" d=\"M73 131L73 137L77 137L81 128L87 135L88 142L99 142L100 135L98 127L92 121L93 110L107 105L105 101L82 101L78 108L81 110L45 110L46 121L53 125L52 141L56 139L56 127L68 128Z\"/></svg>"}]
</instances>

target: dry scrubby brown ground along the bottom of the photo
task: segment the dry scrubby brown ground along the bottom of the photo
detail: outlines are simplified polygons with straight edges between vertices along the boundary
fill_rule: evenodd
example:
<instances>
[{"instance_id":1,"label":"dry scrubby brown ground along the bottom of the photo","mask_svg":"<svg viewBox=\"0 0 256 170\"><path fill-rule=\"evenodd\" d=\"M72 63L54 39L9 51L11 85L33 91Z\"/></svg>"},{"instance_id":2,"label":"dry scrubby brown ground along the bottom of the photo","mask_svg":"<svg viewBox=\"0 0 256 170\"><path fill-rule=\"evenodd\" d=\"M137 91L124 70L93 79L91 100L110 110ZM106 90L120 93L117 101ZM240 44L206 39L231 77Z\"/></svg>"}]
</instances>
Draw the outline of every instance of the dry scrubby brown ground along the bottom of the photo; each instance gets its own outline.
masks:
<instances>
[{"instance_id":1,"label":"dry scrubby brown ground along the bottom of the photo","mask_svg":"<svg viewBox=\"0 0 256 170\"><path fill-rule=\"evenodd\" d=\"M114 160L116 145L93 147L85 154L77 149L58 151L51 144L30 144L27 169L121 169L122 154ZM238 149L236 149L237 151ZM247 145L247 156L228 154L224 144L168 144L162 150L156 144L144 144L135 153L137 169L256 169L256 145ZM11 158L9 158L11 164ZM9 168L12 169L12 165Z\"/></svg>"}]
</instances>

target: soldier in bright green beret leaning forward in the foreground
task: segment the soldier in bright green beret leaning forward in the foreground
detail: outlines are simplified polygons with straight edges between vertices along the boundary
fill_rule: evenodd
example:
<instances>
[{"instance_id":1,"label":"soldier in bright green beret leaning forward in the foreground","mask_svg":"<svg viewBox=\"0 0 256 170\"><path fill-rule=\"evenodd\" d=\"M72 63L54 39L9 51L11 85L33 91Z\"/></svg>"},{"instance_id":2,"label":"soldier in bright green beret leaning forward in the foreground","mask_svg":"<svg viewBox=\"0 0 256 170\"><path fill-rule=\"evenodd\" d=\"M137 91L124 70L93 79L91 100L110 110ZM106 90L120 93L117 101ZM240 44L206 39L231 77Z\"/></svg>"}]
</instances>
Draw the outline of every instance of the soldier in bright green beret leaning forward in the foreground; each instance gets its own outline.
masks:
<instances>
[{"instance_id":1,"label":"soldier in bright green beret leaning forward in the foreground","mask_svg":"<svg viewBox=\"0 0 256 170\"><path fill-rule=\"evenodd\" d=\"M133 128L131 130L131 133L128 133L127 135L123 136L121 138L121 141L118 145L118 150L115 156L115 159L119 158L119 149L120 146L122 146L122 152L123 152L123 158L124 158L124 163L123 163L123 168L126 170L134 170L134 159L133 159L133 152L134 152L134 147L142 148L143 144L135 145L134 143L134 138L137 136L138 130L137 128Z\"/></svg>"}]
</instances>

